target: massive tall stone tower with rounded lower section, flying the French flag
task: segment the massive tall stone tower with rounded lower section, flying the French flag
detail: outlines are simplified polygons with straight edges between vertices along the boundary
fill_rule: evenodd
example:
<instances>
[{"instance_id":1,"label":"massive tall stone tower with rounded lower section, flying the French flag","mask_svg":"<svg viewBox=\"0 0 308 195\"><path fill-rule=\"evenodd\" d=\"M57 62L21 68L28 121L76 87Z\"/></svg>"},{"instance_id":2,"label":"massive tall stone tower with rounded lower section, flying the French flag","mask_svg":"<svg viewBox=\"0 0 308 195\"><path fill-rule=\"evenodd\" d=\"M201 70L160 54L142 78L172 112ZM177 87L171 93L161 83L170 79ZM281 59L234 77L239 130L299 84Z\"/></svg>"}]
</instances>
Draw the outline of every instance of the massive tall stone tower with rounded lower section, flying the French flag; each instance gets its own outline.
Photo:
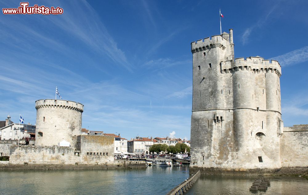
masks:
<instances>
[{"instance_id":1,"label":"massive tall stone tower with rounded lower section, flying the French flag","mask_svg":"<svg viewBox=\"0 0 308 195\"><path fill-rule=\"evenodd\" d=\"M191 51L191 169L281 168L279 63L234 59L232 29L192 42Z\"/></svg>"}]
</instances>

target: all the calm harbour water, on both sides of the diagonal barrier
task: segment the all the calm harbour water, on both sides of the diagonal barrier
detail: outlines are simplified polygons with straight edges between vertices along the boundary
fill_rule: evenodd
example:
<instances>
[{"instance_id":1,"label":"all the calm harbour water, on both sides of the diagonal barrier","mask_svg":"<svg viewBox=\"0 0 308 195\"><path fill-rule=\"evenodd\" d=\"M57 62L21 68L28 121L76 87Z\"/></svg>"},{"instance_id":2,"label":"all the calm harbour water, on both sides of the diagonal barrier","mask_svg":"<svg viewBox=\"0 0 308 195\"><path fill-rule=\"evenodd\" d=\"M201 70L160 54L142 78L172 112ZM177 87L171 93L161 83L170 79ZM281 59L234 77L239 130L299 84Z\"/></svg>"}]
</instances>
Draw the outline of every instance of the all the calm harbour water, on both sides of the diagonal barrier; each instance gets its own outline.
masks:
<instances>
[{"instance_id":1,"label":"all the calm harbour water, on both sides of the diagonal barrier","mask_svg":"<svg viewBox=\"0 0 308 195\"><path fill-rule=\"evenodd\" d=\"M166 194L188 177L188 166L130 170L0 171L0 194ZM255 177L201 176L186 194L253 194ZM308 195L308 180L271 177L271 187L257 194Z\"/></svg>"}]
</instances>

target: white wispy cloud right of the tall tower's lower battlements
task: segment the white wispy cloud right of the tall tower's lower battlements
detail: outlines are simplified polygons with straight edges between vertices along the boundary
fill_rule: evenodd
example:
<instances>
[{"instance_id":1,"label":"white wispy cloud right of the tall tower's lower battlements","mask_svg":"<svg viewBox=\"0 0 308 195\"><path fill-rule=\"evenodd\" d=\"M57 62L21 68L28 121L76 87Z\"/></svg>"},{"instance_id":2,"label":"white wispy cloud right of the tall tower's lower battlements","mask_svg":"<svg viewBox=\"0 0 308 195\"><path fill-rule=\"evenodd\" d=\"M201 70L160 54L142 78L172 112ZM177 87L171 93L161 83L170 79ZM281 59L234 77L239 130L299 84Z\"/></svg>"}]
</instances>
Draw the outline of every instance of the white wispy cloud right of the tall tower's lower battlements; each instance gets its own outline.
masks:
<instances>
[{"instance_id":1,"label":"white wispy cloud right of the tall tower's lower battlements","mask_svg":"<svg viewBox=\"0 0 308 195\"><path fill-rule=\"evenodd\" d=\"M271 59L277 60L281 66L290 66L306 62L308 61L308 46L278 55Z\"/></svg>"}]
</instances>

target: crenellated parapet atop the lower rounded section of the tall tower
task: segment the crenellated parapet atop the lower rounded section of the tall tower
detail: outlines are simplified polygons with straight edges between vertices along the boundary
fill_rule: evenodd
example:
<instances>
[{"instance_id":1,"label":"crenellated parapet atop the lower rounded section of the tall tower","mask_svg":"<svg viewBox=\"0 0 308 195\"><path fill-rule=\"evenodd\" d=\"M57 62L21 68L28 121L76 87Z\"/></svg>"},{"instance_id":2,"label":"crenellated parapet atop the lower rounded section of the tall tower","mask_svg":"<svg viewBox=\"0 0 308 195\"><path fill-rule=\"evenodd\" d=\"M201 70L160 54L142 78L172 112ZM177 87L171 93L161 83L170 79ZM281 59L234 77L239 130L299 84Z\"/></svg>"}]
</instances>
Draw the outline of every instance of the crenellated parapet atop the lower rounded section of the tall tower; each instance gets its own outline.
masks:
<instances>
[{"instance_id":1,"label":"crenellated parapet atop the lower rounded section of the tall tower","mask_svg":"<svg viewBox=\"0 0 308 195\"><path fill-rule=\"evenodd\" d=\"M221 73L229 73L230 71L250 70L255 73L273 72L281 76L281 66L276 60L265 60L262 57L256 56L249 58L236 58L233 60L221 62Z\"/></svg>"}]
</instances>

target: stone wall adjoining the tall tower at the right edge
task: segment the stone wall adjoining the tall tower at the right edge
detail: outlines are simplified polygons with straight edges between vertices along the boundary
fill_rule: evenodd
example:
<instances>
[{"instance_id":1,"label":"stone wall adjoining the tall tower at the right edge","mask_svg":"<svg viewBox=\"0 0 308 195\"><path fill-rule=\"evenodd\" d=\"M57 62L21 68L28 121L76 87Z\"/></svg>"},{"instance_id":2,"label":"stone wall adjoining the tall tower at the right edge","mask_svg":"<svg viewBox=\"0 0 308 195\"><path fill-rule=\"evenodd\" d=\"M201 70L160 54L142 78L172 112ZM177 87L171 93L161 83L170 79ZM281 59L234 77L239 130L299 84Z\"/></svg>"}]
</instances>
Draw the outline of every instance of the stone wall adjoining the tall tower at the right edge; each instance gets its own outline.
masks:
<instances>
[{"instance_id":1,"label":"stone wall adjoining the tall tower at the right edge","mask_svg":"<svg viewBox=\"0 0 308 195\"><path fill-rule=\"evenodd\" d=\"M284 127L280 140L282 167L308 167L308 125Z\"/></svg>"}]
</instances>

